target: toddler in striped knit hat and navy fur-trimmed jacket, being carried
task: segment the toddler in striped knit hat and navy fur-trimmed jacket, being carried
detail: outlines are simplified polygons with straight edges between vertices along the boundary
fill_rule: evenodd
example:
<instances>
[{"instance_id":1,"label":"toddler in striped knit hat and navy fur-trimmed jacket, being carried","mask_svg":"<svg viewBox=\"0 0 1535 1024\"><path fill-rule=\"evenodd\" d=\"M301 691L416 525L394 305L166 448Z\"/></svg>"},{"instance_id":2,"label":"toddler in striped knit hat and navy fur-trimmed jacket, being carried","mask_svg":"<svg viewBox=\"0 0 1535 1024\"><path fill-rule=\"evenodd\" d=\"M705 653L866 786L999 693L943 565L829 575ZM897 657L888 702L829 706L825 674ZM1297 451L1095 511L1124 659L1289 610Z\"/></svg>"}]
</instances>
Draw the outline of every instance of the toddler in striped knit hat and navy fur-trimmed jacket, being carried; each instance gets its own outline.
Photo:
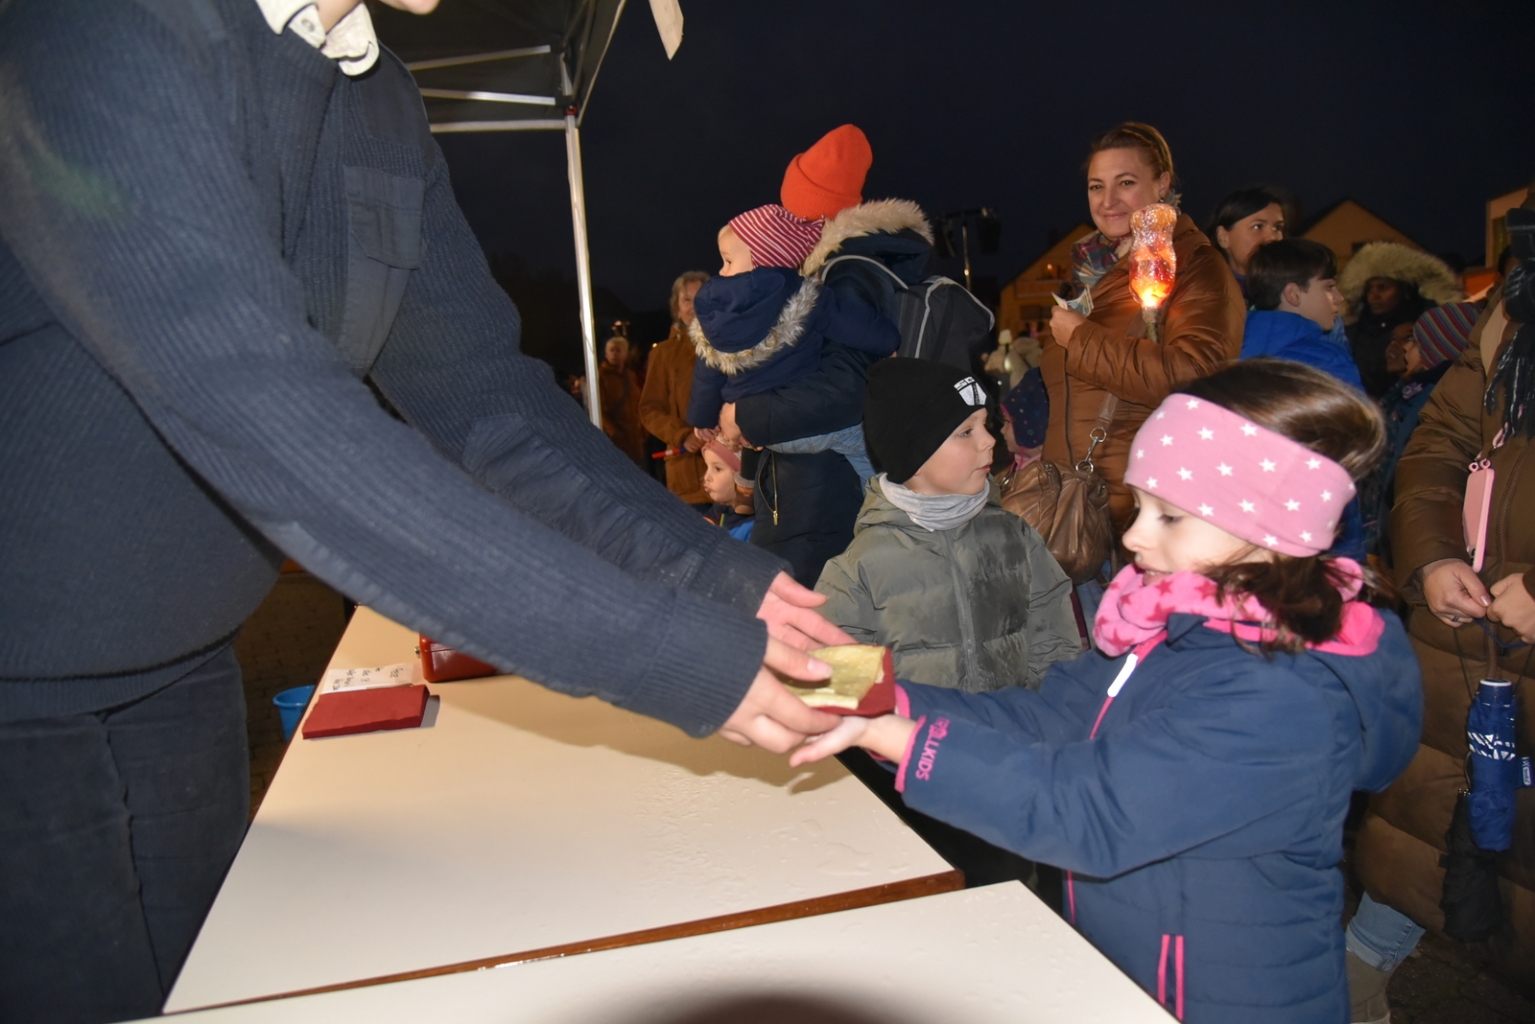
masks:
<instances>
[{"instance_id":1,"label":"toddler in striped knit hat and navy fur-trimmed jacket, being carried","mask_svg":"<svg viewBox=\"0 0 1535 1024\"><path fill-rule=\"evenodd\" d=\"M895 324L872 306L800 276L797 267L820 236L820 221L800 220L781 206L748 210L720 230L720 273L698 289L691 329L698 362L688 422L701 438L712 436L737 399L820 373L826 341L873 356L889 356L900 345ZM861 398L847 396L850 402ZM863 484L873 476L858 424L769 447L838 451Z\"/></svg>"}]
</instances>

